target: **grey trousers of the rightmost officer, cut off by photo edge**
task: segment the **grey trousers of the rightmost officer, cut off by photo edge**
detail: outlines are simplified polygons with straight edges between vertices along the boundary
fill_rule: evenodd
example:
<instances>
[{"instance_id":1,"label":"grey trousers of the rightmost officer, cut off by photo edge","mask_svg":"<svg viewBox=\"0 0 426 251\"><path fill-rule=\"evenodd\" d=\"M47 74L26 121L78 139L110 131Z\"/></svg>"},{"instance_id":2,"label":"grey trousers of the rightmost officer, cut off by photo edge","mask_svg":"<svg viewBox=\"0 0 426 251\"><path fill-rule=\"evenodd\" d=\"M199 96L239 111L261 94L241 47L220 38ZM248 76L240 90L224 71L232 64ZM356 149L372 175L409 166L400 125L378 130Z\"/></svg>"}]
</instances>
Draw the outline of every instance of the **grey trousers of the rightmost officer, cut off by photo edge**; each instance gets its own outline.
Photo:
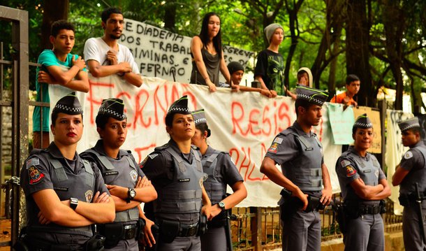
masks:
<instances>
[{"instance_id":1,"label":"grey trousers of the rightmost officer, cut off by photo edge","mask_svg":"<svg viewBox=\"0 0 426 251\"><path fill-rule=\"evenodd\" d=\"M404 248L406 251L426 250L420 234L419 217L415 206L404 206L402 212L402 236L404 236ZM426 209L423 209L423 217L426 215ZM425 219L423 219L425 225ZM425 227L426 228L426 227Z\"/></svg>"}]
</instances>

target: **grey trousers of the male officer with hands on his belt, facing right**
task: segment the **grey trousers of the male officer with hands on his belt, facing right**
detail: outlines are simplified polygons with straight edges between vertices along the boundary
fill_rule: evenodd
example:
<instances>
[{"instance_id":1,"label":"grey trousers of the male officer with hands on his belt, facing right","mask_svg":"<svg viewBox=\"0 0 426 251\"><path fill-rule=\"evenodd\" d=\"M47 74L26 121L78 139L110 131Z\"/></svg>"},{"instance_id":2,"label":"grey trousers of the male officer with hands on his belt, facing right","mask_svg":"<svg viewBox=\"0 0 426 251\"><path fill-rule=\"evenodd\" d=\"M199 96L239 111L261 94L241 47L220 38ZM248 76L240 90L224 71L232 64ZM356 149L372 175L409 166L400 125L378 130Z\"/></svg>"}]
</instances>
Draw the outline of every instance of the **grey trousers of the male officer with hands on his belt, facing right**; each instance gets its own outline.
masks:
<instances>
[{"instance_id":1,"label":"grey trousers of the male officer with hands on his belt, facing right","mask_svg":"<svg viewBox=\"0 0 426 251\"><path fill-rule=\"evenodd\" d=\"M282 206L280 206L282 210ZM320 251L321 218L317 210L301 210L281 220L283 225L283 251Z\"/></svg>"}]
</instances>

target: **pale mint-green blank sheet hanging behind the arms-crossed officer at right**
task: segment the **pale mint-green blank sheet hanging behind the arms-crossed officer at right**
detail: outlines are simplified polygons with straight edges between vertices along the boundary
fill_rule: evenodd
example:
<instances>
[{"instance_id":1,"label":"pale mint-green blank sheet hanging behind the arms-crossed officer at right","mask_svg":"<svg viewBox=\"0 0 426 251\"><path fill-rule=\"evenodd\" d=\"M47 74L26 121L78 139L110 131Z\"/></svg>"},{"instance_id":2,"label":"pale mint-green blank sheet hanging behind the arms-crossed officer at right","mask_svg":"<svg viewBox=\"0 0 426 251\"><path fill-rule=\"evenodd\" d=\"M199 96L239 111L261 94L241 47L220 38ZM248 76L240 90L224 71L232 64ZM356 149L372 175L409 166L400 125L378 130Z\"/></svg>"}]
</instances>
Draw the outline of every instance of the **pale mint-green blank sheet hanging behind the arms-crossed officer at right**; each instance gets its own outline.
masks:
<instances>
[{"instance_id":1,"label":"pale mint-green blank sheet hanging behind the arms-crossed officer at right","mask_svg":"<svg viewBox=\"0 0 426 251\"><path fill-rule=\"evenodd\" d=\"M352 106L343 110L341 103L328 104L328 117L333 136L333 143L336 145L349 145L353 143L352 131L355 118L353 117Z\"/></svg>"}]
</instances>

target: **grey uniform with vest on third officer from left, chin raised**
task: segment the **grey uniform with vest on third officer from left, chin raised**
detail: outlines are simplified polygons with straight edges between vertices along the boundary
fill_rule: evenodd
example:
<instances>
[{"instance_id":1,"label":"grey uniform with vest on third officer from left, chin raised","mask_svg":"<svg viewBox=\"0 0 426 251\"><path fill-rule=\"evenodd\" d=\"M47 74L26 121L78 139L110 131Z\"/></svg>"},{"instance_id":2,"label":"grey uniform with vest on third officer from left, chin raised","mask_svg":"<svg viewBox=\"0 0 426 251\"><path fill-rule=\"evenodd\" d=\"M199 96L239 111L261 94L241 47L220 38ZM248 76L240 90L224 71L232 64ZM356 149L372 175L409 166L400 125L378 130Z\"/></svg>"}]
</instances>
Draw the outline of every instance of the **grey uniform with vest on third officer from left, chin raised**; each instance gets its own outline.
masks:
<instances>
[{"instance_id":1,"label":"grey uniform with vest on third officer from left, chin raised","mask_svg":"<svg viewBox=\"0 0 426 251\"><path fill-rule=\"evenodd\" d=\"M140 164L158 193L153 201L154 217L160 227L158 250L200 250L200 237L196 236L202 204L201 185L204 180L200 152L191 148L182 153L175 141L170 141L145 158ZM166 223L167 222L167 223ZM171 243L167 231L179 222ZM170 233L169 233L170 234Z\"/></svg>"}]
</instances>

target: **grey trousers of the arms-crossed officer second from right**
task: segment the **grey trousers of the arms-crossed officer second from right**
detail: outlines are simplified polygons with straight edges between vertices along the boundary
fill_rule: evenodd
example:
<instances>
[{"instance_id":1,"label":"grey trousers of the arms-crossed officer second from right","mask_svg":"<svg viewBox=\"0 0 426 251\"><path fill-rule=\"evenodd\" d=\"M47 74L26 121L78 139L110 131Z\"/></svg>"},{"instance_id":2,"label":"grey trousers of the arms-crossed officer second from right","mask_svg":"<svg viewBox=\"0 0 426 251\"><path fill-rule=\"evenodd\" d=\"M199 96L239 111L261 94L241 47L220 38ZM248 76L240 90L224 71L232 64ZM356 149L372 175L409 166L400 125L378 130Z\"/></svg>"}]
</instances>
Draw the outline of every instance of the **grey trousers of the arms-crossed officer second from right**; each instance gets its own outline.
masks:
<instances>
[{"instance_id":1,"label":"grey trousers of the arms-crossed officer second from right","mask_svg":"<svg viewBox=\"0 0 426 251\"><path fill-rule=\"evenodd\" d=\"M384 251L385 235L380 213L348 218L348 228L343 236L345 251Z\"/></svg>"}]
</instances>

